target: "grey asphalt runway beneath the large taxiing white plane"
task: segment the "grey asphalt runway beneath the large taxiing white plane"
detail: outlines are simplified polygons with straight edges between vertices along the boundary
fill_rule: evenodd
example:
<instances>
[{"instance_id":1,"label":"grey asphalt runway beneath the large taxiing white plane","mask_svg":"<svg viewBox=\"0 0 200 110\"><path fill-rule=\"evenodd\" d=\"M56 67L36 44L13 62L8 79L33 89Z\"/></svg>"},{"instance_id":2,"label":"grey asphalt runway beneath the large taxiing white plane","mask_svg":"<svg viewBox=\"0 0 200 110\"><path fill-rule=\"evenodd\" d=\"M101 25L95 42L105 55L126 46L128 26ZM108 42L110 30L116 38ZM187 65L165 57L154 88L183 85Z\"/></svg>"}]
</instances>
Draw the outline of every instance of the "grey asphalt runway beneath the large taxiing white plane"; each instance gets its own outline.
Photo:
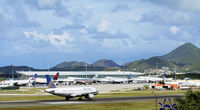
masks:
<instances>
[{"instance_id":1,"label":"grey asphalt runway beneath the large taxiing white plane","mask_svg":"<svg viewBox=\"0 0 200 110\"><path fill-rule=\"evenodd\" d=\"M0 108L22 107L22 106L44 106L44 105L73 105L73 104L97 104L97 103L120 103L120 102L138 102L138 101L154 101L155 98L163 99L178 98L184 95L165 95L165 96L139 96L139 97L113 97L113 98L95 98L93 100L24 100L24 101L0 101Z\"/></svg>"}]
</instances>

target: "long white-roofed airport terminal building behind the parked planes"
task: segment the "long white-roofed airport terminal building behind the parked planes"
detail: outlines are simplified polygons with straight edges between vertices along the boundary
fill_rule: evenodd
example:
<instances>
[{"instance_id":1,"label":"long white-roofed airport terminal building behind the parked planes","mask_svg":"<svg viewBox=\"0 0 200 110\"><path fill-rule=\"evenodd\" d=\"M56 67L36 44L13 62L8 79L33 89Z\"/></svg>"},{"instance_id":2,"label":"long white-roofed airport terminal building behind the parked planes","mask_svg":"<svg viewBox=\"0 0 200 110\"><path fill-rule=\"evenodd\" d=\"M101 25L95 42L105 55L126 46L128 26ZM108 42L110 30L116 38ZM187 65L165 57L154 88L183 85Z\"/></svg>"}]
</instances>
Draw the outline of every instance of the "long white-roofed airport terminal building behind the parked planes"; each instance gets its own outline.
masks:
<instances>
[{"instance_id":1,"label":"long white-roofed airport terminal building behind the parked planes","mask_svg":"<svg viewBox=\"0 0 200 110\"><path fill-rule=\"evenodd\" d=\"M105 78L105 77L120 77L126 78L128 75L133 77L144 75L140 72L130 72L130 71L17 71L21 74L21 79L28 79L34 74L37 74L39 78L45 78L46 74L49 74L51 77L55 76L56 73L59 73L61 79L68 77L78 77L78 78Z\"/></svg>"}]
</instances>

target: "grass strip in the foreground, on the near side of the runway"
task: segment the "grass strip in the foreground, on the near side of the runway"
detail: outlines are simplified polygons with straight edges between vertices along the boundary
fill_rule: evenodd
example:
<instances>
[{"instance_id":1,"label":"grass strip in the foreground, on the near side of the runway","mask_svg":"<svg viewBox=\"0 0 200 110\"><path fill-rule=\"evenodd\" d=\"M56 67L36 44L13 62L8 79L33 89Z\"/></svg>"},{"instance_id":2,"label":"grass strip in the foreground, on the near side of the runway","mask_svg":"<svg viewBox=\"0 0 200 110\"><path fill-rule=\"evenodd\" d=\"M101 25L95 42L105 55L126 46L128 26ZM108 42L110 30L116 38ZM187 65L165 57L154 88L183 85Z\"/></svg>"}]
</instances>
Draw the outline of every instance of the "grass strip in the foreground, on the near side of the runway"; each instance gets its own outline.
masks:
<instances>
[{"instance_id":1,"label":"grass strip in the foreground, on the near side of the runway","mask_svg":"<svg viewBox=\"0 0 200 110\"><path fill-rule=\"evenodd\" d=\"M0 108L0 110L152 110L155 101Z\"/></svg>"}]
</instances>

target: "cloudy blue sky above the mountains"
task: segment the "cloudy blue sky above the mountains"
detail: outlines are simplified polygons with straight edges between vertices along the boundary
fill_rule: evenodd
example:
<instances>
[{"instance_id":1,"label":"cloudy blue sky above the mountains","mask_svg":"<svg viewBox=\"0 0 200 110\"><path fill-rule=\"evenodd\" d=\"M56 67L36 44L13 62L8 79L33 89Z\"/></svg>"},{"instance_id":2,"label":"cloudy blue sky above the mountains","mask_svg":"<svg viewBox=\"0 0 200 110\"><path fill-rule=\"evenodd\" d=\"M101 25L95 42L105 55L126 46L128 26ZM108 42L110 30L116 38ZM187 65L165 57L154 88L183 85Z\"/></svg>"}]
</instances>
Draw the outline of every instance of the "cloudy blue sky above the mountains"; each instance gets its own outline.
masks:
<instances>
[{"instance_id":1,"label":"cloudy blue sky above the mountains","mask_svg":"<svg viewBox=\"0 0 200 110\"><path fill-rule=\"evenodd\" d=\"M124 64L200 47L199 0L1 0L0 66Z\"/></svg>"}]
</instances>

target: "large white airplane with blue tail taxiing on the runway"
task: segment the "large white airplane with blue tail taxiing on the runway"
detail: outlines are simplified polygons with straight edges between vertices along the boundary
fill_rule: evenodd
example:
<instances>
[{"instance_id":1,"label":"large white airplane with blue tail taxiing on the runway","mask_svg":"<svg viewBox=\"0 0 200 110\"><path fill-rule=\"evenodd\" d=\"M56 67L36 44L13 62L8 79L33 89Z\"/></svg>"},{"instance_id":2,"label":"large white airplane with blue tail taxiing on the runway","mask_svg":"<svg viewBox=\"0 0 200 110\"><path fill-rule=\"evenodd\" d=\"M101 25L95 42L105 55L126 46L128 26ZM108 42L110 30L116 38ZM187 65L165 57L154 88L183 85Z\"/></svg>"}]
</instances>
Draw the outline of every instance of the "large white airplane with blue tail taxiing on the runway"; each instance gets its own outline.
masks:
<instances>
[{"instance_id":1,"label":"large white airplane with blue tail taxiing on the runway","mask_svg":"<svg viewBox=\"0 0 200 110\"><path fill-rule=\"evenodd\" d=\"M93 99L98 91L93 87L73 87L73 88L56 88L49 75L46 75L48 89L44 91L53 95L65 97L66 100L73 97L80 97L81 100L84 96L86 99Z\"/></svg>"}]
</instances>

